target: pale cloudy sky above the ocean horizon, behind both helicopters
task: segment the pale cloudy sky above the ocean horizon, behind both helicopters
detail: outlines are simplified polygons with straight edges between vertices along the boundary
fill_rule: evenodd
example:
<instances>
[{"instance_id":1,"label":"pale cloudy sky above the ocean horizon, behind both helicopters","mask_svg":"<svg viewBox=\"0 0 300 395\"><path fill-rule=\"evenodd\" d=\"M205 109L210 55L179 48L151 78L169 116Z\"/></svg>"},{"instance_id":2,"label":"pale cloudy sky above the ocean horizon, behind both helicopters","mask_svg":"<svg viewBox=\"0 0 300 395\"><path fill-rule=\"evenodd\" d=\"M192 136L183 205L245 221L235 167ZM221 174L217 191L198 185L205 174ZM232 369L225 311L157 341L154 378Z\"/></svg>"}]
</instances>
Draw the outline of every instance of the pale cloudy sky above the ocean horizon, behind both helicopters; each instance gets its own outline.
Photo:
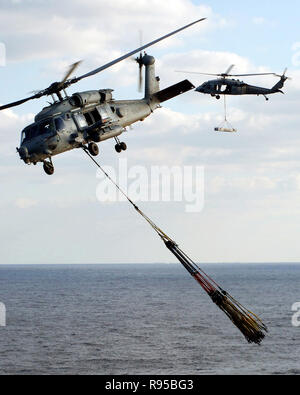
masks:
<instances>
[{"instance_id":1,"label":"pale cloudy sky above the ocean horizon, behind both helicopters","mask_svg":"<svg viewBox=\"0 0 300 395\"><path fill-rule=\"evenodd\" d=\"M138 202L193 260L205 263L300 262L300 4L198 0L1 0L0 103L44 89L83 60L82 75L196 19L208 19L147 52L156 58L161 88L188 78L191 70L237 73L288 68L285 95L228 98L236 134L218 134L223 104L191 91L163 104L122 139L100 144L100 163L118 176L153 166L201 167L203 207L186 201ZM114 98L141 98L137 65L126 60L68 90L114 89ZM272 87L273 76L245 78ZM96 198L96 169L79 150L54 158L55 175L27 166L16 154L21 130L47 98L0 113L0 263L174 262L147 223L125 202ZM202 195L201 195L202 196Z\"/></svg>"}]
</instances>

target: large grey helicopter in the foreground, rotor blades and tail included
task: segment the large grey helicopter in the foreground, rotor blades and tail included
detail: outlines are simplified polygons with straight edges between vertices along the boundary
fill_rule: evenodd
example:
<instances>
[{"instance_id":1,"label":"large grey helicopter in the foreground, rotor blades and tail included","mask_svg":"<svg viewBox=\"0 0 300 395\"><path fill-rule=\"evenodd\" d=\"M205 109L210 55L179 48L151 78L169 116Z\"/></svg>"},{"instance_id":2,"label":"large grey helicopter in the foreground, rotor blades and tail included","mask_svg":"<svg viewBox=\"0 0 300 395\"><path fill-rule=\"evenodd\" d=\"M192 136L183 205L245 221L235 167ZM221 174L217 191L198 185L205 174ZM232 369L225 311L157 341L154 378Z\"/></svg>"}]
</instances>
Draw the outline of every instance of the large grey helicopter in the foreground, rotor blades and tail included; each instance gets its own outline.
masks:
<instances>
[{"instance_id":1,"label":"large grey helicopter in the foreground, rotor blades and tail included","mask_svg":"<svg viewBox=\"0 0 300 395\"><path fill-rule=\"evenodd\" d=\"M206 18L201 18L181 27L163 37L121 56L80 77L70 78L81 62L70 66L61 82L54 82L48 88L36 92L33 96L0 106L0 111L19 106L29 100L51 96L53 103L43 108L35 116L34 123L21 133L20 147L17 148L20 159L26 164L43 163L47 175L54 174L52 157L75 148L84 148L92 156L99 154L97 143L115 139L115 150L125 151L127 145L119 136L128 126L144 121L161 103L188 92L195 86L188 80L181 81L160 90L160 78L155 74L155 58L142 52L144 49L187 29ZM145 96L140 100L114 100L112 89L91 90L68 96L66 89L84 78L96 75L113 65L140 52L135 61L139 65L140 81L145 67ZM63 96L64 94L64 96Z\"/></svg>"}]
</instances>

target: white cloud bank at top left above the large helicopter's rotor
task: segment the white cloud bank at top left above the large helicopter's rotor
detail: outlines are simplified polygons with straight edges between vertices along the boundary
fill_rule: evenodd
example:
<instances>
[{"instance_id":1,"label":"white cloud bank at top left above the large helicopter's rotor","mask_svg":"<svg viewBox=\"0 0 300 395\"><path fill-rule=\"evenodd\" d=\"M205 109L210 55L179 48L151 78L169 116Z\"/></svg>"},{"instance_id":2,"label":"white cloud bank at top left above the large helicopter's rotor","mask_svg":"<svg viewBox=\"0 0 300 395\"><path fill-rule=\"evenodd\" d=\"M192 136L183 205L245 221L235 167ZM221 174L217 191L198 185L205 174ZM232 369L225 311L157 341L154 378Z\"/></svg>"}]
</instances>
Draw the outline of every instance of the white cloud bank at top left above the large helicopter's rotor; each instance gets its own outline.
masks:
<instances>
[{"instance_id":1,"label":"white cloud bank at top left above the large helicopter's rotor","mask_svg":"<svg viewBox=\"0 0 300 395\"><path fill-rule=\"evenodd\" d=\"M103 64L136 47L139 29L150 41L201 17L210 20L184 33L185 37L224 24L210 7L190 0L86 0L84 4L74 0L71 5L58 0L6 2L1 5L0 23L11 61L96 57ZM171 38L161 45L169 48L177 40Z\"/></svg>"}]
</instances>

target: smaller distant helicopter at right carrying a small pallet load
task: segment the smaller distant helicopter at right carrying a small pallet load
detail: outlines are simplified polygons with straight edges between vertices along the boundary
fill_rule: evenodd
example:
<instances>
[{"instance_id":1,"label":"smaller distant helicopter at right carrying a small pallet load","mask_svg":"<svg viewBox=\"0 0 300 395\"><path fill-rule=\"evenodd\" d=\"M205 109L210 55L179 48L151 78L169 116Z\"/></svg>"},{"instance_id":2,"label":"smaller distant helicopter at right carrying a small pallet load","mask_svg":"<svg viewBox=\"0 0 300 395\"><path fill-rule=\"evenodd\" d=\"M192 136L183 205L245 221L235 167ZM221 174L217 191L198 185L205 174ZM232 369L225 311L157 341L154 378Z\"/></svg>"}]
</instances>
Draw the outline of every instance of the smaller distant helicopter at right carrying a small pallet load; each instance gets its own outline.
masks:
<instances>
[{"instance_id":1,"label":"smaller distant helicopter at right carrying a small pallet load","mask_svg":"<svg viewBox=\"0 0 300 395\"><path fill-rule=\"evenodd\" d=\"M178 72L220 77L217 80L204 82L204 84L200 85L196 89L197 92L209 94L218 100L221 98L221 95L257 95L257 96L262 95L265 97L266 100L269 100L267 95L271 95L274 93L284 93L282 92L281 89L284 87L285 81L290 79L289 77L286 77L287 69L285 69L283 75L278 75L275 73L229 74L233 68L234 65L231 65L228 68L228 70L223 74L208 74L208 73L198 73L191 71L178 71ZM273 88L268 89L268 88L248 85L243 81L228 78L228 77L252 77L258 75L273 75L279 77L280 81L276 85L274 85Z\"/></svg>"}]
</instances>

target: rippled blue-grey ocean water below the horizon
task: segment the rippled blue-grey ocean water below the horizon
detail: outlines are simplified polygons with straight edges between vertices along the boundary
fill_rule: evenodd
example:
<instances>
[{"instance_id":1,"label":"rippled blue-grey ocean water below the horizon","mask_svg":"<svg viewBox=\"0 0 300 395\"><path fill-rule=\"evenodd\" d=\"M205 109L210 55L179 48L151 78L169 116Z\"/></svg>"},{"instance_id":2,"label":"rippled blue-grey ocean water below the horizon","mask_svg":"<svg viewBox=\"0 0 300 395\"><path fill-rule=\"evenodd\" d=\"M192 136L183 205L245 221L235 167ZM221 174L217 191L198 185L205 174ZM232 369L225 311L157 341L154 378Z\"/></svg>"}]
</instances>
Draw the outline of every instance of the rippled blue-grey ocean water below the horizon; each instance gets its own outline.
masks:
<instances>
[{"instance_id":1,"label":"rippled blue-grey ocean water below the horizon","mask_svg":"<svg viewBox=\"0 0 300 395\"><path fill-rule=\"evenodd\" d=\"M203 265L269 328L248 344L180 266L0 266L0 374L300 374L300 265Z\"/></svg>"}]
</instances>

